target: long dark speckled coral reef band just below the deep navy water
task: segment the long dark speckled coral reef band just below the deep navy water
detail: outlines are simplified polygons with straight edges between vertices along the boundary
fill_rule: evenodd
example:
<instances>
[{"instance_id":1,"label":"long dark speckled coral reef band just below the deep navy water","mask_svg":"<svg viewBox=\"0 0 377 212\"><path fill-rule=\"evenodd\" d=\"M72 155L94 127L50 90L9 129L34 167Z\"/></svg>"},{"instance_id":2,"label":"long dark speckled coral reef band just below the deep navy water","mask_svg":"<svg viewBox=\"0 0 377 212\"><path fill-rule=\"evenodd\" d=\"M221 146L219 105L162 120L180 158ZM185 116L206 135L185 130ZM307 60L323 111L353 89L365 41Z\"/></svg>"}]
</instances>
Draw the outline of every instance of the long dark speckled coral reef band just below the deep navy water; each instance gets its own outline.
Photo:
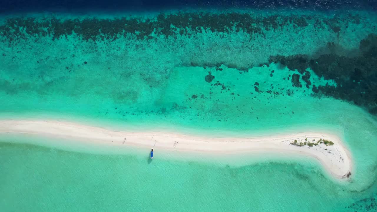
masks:
<instances>
[{"instance_id":1,"label":"long dark speckled coral reef band just below the deep navy water","mask_svg":"<svg viewBox=\"0 0 377 212\"><path fill-rule=\"evenodd\" d=\"M263 34L263 30L278 30L284 26L304 28L313 23L318 28L328 28L337 33L341 30L338 23L358 22L360 17L333 17L323 18L316 15L270 15L261 16L247 13L221 13L209 12L178 12L176 14L161 13L154 18L8 18L0 25L0 35L10 40L26 38L25 35L46 36L59 39L72 35L80 35L83 40L109 39L133 34L138 39L153 38L165 35L176 37L179 35L192 36L192 33L211 31L216 33L229 33L244 31L248 34Z\"/></svg>"}]
</instances>

